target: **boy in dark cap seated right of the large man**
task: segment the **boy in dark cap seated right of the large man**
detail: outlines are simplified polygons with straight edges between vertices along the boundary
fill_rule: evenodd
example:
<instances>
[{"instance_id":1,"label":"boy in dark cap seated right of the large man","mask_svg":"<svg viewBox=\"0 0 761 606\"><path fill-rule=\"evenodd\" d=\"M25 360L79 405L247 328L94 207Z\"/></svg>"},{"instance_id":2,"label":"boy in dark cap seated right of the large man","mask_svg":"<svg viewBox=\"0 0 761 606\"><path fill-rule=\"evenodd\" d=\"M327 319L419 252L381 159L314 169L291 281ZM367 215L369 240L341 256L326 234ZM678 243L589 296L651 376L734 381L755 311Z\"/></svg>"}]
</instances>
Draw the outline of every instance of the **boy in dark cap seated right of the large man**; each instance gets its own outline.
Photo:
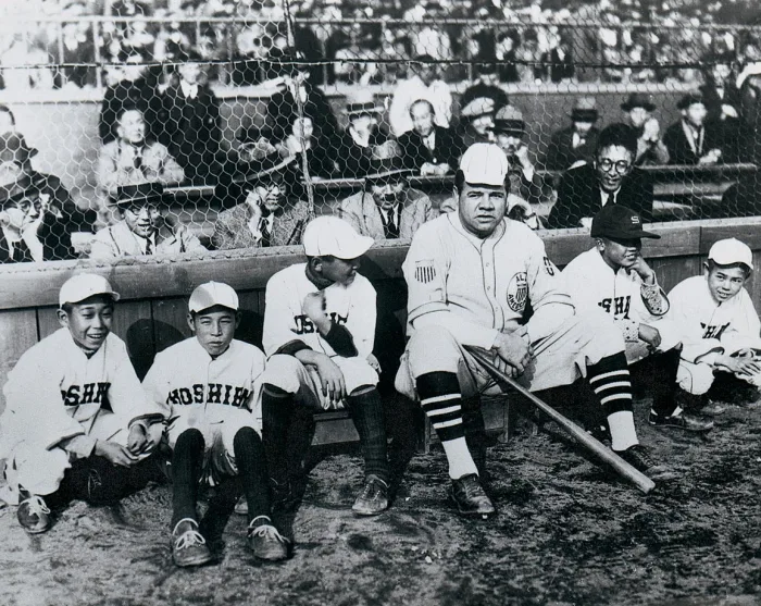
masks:
<instances>
[{"instance_id":1,"label":"boy in dark cap seated right of the large man","mask_svg":"<svg viewBox=\"0 0 761 606\"><path fill-rule=\"evenodd\" d=\"M563 270L565 290L577 311L602 309L624 336L633 380L652 386L649 422L704 432L712 421L685 412L677 398L679 332L664 317L669 299L656 272L641 256L641 238L660 238L643 230L641 218L621 205L606 205L591 222L595 247Z\"/></svg>"}]
</instances>

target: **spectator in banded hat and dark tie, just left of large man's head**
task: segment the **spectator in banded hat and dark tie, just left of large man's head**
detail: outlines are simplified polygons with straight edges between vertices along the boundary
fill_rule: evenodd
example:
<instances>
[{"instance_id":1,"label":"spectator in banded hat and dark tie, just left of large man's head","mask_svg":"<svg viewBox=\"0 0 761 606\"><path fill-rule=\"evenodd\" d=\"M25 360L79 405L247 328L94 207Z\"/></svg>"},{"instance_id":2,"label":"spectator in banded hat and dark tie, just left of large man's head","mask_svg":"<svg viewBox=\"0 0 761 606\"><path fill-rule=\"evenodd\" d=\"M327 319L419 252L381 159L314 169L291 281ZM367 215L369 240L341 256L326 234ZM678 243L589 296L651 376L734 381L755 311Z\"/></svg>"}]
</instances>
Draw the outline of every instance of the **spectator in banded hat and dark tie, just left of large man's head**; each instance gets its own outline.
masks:
<instances>
[{"instance_id":1,"label":"spectator in banded hat and dark tie, just left of large man's head","mask_svg":"<svg viewBox=\"0 0 761 606\"><path fill-rule=\"evenodd\" d=\"M338 207L338 217L357 232L375 239L409 239L423 223L438 217L431 198L409 186L410 170L397 141L373 148L370 161L373 172L365 177L363 190Z\"/></svg>"}]
</instances>

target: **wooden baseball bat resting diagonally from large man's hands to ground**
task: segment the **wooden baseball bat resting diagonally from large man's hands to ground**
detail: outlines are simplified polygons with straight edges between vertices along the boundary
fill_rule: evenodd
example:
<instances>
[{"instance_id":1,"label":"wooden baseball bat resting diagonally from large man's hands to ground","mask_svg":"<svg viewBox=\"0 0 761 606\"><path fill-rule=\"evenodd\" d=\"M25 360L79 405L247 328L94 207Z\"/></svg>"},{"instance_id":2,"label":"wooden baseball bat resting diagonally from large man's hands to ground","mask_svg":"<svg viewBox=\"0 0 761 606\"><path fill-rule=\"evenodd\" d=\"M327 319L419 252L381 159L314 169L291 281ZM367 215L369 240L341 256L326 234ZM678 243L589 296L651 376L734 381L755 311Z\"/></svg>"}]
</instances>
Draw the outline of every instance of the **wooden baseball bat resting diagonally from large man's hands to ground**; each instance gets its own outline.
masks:
<instances>
[{"instance_id":1,"label":"wooden baseball bat resting diagonally from large man's hands to ground","mask_svg":"<svg viewBox=\"0 0 761 606\"><path fill-rule=\"evenodd\" d=\"M607 448L603 444L595 440L591 435L589 435L586 431L579 428L571 419L563 417L554 408L549 406L547 403L542 401L540 398L536 397L528 389L526 389L512 378L508 376L504 372L499 370L494 364L494 362L484 355L483 351L472 347L466 347L466 349L471 354L471 356L473 356L476 359L476 361L481 366L483 366L484 369L486 369L486 371L492 376L492 379L495 379L495 381L499 381L510 385L510 387L512 387L519 394L527 398L528 401L531 401L534 406L536 406L539 410L541 410L561 428L563 428L567 433L570 433L576 442L578 442L582 446L584 446L587 450L596 455L598 458L602 459L603 462L610 465L613 469L615 469L615 471L619 472L620 475L632 482L643 493L647 494L656 487L656 483L652 480L650 480L650 478L645 475L638 469L632 467L613 450Z\"/></svg>"}]
</instances>

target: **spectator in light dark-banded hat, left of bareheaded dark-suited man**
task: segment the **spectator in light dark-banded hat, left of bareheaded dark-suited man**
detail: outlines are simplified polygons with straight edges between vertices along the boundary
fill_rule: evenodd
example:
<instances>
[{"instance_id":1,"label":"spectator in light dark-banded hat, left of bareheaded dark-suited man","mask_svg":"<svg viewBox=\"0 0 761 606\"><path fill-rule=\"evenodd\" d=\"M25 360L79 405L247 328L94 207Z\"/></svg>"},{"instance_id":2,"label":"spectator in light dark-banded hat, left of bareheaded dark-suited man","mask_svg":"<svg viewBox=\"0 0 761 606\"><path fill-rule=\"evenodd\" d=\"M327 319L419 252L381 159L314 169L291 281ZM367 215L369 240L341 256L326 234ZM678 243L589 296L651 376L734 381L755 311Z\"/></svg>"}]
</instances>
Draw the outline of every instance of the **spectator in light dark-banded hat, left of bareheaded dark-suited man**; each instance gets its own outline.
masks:
<instances>
[{"instance_id":1,"label":"spectator in light dark-banded hat, left of bareheaded dark-suited man","mask_svg":"<svg viewBox=\"0 0 761 606\"><path fill-rule=\"evenodd\" d=\"M336 156L342 163L345 177L362 178L370 172L371 150L386 140L388 135L378 127L383 107L375 102L369 90L352 91L347 96L346 115L349 125L341 137ZM332 156L333 150L328 153Z\"/></svg>"}]
</instances>

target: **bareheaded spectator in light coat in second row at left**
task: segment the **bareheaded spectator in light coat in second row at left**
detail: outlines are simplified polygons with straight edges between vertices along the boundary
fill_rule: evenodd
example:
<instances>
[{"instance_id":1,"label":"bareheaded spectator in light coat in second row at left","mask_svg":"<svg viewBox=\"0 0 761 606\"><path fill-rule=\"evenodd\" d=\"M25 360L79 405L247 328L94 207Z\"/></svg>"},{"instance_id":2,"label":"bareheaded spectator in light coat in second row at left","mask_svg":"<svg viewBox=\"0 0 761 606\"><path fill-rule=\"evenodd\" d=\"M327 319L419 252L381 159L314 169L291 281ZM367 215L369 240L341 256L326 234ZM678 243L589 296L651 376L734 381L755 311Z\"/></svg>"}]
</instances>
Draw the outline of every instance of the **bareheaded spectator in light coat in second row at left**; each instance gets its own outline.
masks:
<instances>
[{"instance_id":1,"label":"bareheaded spectator in light coat in second row at left","mask_svg":"<svg viewBox=\"0 0 761 606\"><path fill-rule=\"evenodd\" d=\"M123 107L116 124L118 138L105 144L98 158L98 186L102 193L114 196L122 185L177 185L185 178L183 168L169 149L147 138L139 108Z\"/></svg>"}]
</instances>

